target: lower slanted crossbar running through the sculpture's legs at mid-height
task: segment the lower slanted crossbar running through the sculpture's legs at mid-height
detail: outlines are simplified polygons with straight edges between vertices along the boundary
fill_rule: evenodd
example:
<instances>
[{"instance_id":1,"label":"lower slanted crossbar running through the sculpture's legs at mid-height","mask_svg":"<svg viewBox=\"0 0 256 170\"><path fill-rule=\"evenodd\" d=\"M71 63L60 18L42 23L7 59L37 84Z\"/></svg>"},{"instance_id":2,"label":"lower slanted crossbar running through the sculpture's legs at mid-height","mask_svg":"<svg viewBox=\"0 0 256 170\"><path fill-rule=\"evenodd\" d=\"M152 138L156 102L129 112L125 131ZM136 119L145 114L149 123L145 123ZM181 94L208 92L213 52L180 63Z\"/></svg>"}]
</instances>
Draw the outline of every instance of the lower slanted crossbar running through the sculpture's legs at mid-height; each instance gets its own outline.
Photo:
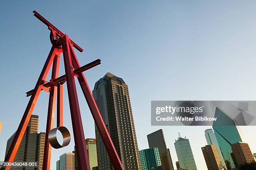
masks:
<instances>
[{"instance_id":1,"label":"lower slanted crossbar running through the sculpture's legs at mid-height","mask_svg":"<svg viewBox=\"0 0 256 170\"><path fill-rule=\"evenodd\" d=\"M78 68L78 69L75 69L74 70L74 74L79 74L79 73L82 73L83 71L89 70L92 67L95 67L95 66L99 65L100 61L101 61L100 59L97 59L95 61L92 61L92 62L90 62L90 63L88 63L88 64ZM66 81L66 74L63 75L63 76L60 76L60 77L58 77L58 78L56 78L54 80L51 80L50 82L45 83L44 87L50 87L52 84L57 84L57 83L60 83L62 81ZM26 92L27 97L31 96L33 94L33 91L34 91L34 89Z\"/></svg>"}]
</instances>

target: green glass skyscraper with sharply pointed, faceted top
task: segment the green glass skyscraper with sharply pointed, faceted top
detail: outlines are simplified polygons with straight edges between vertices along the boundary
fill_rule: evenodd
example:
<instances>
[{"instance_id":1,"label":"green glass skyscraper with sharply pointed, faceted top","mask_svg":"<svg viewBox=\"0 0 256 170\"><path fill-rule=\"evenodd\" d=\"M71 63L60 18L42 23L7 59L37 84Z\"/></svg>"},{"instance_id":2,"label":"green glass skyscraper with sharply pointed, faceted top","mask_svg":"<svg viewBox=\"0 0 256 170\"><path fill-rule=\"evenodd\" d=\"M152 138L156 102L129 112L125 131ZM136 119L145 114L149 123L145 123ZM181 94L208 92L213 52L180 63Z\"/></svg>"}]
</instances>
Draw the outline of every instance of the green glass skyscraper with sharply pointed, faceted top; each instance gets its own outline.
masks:
<instances>
[{"instance_id":1,"label":"green glass skyscraper with sharply pointed, faceted top","mask_svg":"<svg viewBox=\"0 0 256 170\"><path fill-rule=\"evenodd\" d=\"M217 120L213 122L212 128L215 132L226 167L228 169L235 168L231 145L236 142L242 142L241 136L236 127L237 122L218 107L216 107L215 110L215 118L217 118ZM223 124L222 122L225 122L227 125L219 125Z\"/></svg>"}]
</instances>

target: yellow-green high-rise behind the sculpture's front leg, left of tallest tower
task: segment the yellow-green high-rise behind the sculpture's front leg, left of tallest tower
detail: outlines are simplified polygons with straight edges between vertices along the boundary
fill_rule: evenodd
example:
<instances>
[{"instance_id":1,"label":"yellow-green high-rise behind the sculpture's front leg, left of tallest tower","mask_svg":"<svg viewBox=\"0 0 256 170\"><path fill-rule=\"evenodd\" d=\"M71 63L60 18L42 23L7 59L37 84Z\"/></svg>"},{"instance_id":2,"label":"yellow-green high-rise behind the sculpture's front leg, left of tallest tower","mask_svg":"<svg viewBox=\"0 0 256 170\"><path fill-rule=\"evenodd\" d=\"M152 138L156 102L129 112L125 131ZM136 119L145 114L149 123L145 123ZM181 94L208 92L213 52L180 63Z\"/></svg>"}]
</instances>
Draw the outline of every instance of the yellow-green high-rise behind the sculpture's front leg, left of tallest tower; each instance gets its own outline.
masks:
<instances>
[{"instance_id":1,"label":"yellow-green high-rise behind the sculpture's front leg, left of tallest tower","mask_svg":"<svg viewBox=\"0 0 256 170\"><path fill-rule=\"evenodd\" d=\"M97 147L96 147L96 139L91 139L91 138L87 138L85 140L86 142L86 148L87 148L87 152L88 152L88 156L89 156L89 162L90 162L90 168L92 170L93 167L97 167L98 166L98 162L97 162ZM75 151L73 151L74 155L75 155L75 169L78 170L78 164L77 164L77 152L76 152L76 148Z\"/></svg>"}]
</instances>

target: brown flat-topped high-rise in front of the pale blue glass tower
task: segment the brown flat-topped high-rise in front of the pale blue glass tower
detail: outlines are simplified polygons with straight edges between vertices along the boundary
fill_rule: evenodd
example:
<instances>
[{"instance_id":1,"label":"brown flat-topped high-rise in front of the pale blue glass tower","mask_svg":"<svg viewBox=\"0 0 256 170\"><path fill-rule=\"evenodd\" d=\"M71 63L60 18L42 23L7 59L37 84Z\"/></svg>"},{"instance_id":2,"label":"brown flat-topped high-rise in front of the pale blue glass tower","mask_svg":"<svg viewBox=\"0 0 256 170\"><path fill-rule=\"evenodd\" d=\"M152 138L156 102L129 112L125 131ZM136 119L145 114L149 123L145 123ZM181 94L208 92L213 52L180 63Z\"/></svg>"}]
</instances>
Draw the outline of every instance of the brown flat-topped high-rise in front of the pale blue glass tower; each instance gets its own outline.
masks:
<instances>
[{"instance_id":1,"label":"brown flat-topped high-rise in front of the pale blue glass tower","mask_svg":"<svg viewBox=\"0 0 256 170\"><path fill-rule=\"evenodd\" d=\"M216 145L206 145L201 149L205 157L208 170L223 170L223 165Z\"/></svg>"}]
</instances>

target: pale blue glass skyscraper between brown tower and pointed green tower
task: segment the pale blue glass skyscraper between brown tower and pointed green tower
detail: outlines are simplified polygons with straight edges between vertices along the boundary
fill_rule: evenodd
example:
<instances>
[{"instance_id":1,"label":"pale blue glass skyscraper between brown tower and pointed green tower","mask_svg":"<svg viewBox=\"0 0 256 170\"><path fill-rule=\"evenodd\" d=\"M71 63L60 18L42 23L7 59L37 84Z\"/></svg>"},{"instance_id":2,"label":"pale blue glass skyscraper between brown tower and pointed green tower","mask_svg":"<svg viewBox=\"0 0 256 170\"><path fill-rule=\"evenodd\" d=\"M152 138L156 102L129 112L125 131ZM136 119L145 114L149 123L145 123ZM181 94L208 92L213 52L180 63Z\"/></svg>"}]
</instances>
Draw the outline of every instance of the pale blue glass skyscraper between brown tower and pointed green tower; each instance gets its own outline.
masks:
<instances>
[{"instance_id":1,"label":"pale blue glass skyscraper between brown tower and pointed green tower","mask_svg":"<svg viewBox=\"0 0 256 170\"><path fill-rule=\"evenodd\" d=\"M215 136L212 129L206 129L205 130L205 139L206 139L208 145L215 145L216 146L216 148L218 150L220 160L221 160L221 163L222 163L222 166L223 166L224 169L227 169L226 164L225 164L225 160L224 160L223 155L220 151L220 146L218 144L218 141L217 141L216 136Z\"/></svg>"}]
</instances>

